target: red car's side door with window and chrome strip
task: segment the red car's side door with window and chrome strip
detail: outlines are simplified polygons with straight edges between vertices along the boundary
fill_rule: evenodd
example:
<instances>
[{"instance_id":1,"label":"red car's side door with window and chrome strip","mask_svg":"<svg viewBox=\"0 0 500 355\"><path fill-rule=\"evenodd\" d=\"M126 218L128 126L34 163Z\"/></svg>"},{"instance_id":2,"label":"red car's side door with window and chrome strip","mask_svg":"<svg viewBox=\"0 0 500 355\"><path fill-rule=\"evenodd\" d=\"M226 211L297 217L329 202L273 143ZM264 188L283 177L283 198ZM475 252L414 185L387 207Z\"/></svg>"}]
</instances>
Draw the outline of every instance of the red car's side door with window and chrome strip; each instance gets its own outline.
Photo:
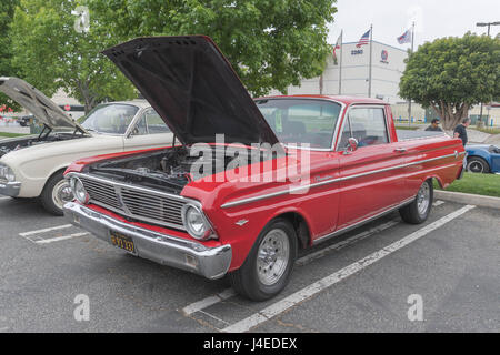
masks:
<instances>
[{"instance_id":1,"label":"red car's side door with window and chrome strip","mask_svg":"<svg viewBox=\"0 0 500 355\"><path fill-rule=\"evenodd\" d=\"M340 204L338 229L374 216L403 200L404 155L391 141L384 105L353 105L340 130ZM349 138L358 149L349 152ZM398 166L401 166L399 169Z\"/></svg>"}]
</instances>

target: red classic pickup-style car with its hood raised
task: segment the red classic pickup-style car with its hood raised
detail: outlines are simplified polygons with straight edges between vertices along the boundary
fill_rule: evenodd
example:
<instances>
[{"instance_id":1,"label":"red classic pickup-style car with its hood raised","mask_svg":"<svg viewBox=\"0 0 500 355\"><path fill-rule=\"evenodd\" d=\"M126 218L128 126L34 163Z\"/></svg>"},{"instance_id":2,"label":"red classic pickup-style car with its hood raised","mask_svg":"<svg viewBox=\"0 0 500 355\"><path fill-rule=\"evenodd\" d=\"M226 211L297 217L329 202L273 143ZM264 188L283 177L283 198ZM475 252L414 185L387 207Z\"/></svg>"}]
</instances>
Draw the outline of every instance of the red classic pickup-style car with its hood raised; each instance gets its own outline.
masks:
<instances>
[{"instance_id":1,"label":"red classic pickup-style car with its hood raised","mask_svg":"<svg viewBox=\"0 0 500 355\"><path fill-rule=\"evenodd\" d=\"M104 53L179 144L73 163L67 219L140 257L229 274L251 300L287 285L299 248L394 210L422 223L432 179L447 186L463 170L460 140L397 132L380 100L252 100L207 37L141 38Z\"/></svg>"}]
</instances>

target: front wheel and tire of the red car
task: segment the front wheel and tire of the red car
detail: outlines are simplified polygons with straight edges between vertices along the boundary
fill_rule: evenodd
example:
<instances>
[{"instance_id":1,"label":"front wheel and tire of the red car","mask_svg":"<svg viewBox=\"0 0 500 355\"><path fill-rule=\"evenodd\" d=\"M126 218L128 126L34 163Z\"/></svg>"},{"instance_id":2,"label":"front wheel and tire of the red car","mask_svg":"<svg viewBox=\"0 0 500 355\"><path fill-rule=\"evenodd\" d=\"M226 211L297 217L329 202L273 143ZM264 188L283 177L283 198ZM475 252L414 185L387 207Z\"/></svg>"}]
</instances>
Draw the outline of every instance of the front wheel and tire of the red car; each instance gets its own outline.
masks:
<instances>
[{"instance_id":1,"label":"front wheel and tire of the red car","mask_svg":"<svg viewBox=\"0 0 500 355\"><path fill-rule=\"evenodd\" d=\"M297 260L297 248L293 225L283 219L271 221L260 232L243 265L229 273L232 287L252 301L274 297L290 280Z\"/></svg>"}]
</instances>

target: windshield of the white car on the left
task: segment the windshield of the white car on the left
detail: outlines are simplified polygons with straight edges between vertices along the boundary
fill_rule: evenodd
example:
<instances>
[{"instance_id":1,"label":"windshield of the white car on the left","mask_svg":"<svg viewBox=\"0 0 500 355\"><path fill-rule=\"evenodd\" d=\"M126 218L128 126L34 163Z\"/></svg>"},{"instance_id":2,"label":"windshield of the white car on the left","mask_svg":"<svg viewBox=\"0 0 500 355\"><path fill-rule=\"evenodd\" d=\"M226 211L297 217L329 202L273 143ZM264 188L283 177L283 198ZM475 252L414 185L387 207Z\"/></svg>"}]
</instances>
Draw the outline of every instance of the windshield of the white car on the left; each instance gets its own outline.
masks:
<instances>
[{"instance_id":1,"label":"windshield of the white car on the left","mask_svg":"<svg viewBox=\"0 0 500 355\"><path fill-rule=\"evenodd\" d=\"M87 131L124 134L137 111L139 108L131 104L100 104L82 118L80 123Z\"/></svg>"}]
</instances>

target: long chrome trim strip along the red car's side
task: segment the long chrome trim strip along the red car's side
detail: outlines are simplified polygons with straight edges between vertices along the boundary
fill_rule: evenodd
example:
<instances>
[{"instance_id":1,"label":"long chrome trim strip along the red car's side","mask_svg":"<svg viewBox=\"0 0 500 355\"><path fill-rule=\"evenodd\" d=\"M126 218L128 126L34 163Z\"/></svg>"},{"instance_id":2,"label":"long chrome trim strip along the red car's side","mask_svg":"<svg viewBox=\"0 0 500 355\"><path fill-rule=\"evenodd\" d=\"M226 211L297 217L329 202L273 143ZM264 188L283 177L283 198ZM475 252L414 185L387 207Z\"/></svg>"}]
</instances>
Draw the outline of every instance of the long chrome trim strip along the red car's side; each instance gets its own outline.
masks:
<instances>
[{"instance_id":1,"label":"long chrome trim strip along the red car's side","mask_svg":"<svg viewBox=\"0 0 500 355\"><path fill-rule=\"evenodd\" d=\"M454 153L453 154L442 155L442 156L437 156L437 158L431 158L431 159L426 159L426 160L420 160L418 162L412 162L412 163L406 163L406 164L400 164L400 165L396 165L396 166L378 169L378 170L373 170L373 171L369 171L369 172L364 172L364 173L359 173L359 174L353 174L353 175L349 175L349 176L330 179L330 180L326 180L326 181L322 181L322 182L317 182L317 183L313 183L313 184L307 184L307 185L303 185L303 186L290 187L290 189L284 190L284 191L278 191L278 192L273 192L273 193L269 193L269 194L264 194L264 195L260 195L260 196L237 200L237 201L233 201L233 202L227 202L227 203L221 205L221 209L234 207L234 206L239 206L239 205L242 205L242 204L247 204L247 203L251 203L251 202L256 202L256 201L260 201L260 200L264 200L264 199L276 197L276 196L289 194L289 193L301 191L301 190L308 190L308 189L312 189L312 187L322 186L322 185L326 185L326 184L331 184L331 183L336 183L336 182L340 182L340 181L347 181L347 180L351 180L351 179L357 179L357 178L362 178L362 176L367 176L367 175L378 174L378 173L382 173L382 172L387 172L387 171L391 171L391 170L408 168L408 166L418 165L418 164L421 164L421 163L432 162L432 161L436 161L436 160L447 159L447 158L451 158L451 156L454 156Z\"/></svg>"}]
</instances>

